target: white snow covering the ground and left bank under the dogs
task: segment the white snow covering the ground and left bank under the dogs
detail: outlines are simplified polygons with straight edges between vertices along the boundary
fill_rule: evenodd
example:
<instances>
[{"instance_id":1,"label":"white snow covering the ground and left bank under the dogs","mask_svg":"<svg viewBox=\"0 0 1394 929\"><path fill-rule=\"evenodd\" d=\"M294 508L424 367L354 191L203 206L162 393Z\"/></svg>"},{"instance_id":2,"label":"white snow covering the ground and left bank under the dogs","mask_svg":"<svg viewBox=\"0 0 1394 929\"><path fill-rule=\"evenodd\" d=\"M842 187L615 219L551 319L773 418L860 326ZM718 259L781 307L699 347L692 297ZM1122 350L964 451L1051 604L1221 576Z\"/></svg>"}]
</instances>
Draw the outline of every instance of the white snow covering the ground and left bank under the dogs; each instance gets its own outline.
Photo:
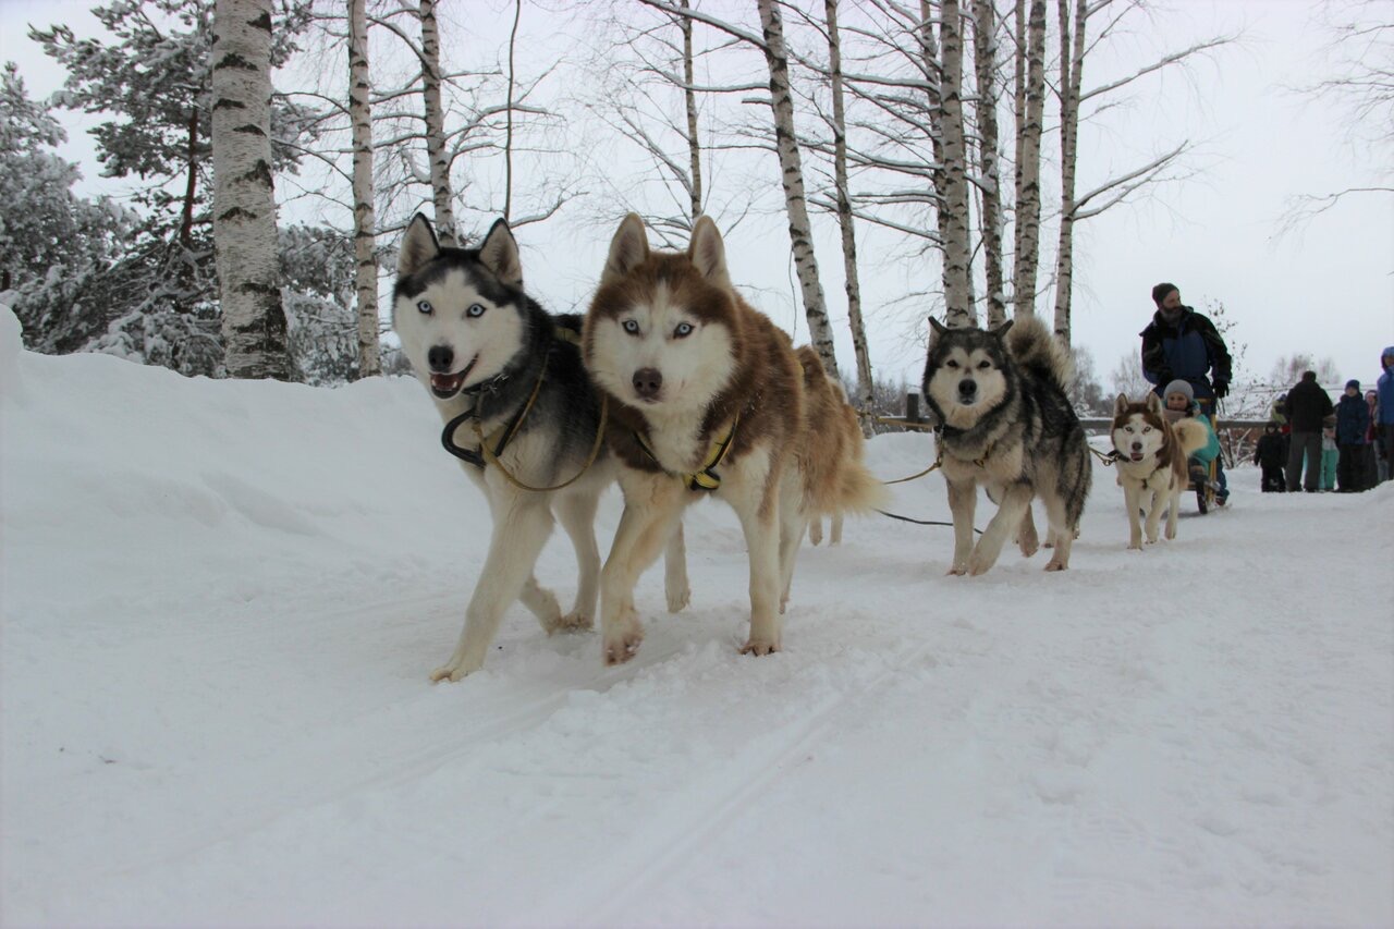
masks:
<instances>
[{"instance_id":1,"label":"white snow covering the ground and left bank under the dogs","mask_svg":"<svg viewBox=\"0 0 1394 929\"><path fill-rule=\"evenodd\" d=\"M3 310L0 375L7 926L1394 922L1394 485L1239 467L1138 554L1100 466L1062 575L849 520L768 658L704 504L631 664L516 607L432 686L488 512L418 384L38 356Z\"/></svg>"}]
</instances>

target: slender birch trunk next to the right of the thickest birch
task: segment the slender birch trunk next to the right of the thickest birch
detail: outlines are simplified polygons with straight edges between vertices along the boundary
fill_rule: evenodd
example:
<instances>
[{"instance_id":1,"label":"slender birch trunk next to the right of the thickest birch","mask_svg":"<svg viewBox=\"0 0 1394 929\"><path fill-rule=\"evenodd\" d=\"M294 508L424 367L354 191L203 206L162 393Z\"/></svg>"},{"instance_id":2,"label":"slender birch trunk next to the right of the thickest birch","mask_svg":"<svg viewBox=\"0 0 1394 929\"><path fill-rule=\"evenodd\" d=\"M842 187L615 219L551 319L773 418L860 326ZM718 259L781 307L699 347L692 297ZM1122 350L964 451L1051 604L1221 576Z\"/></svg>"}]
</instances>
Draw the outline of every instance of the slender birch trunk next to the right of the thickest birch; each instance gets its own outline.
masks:
<instances>
[{"instance_id":1,"label":"slender birch trunk next to the right of the thickest birch","mask_svg":"<svg viewBox=\"0 0 1394 929\"><path fill-rule=\"evenodd\" d=\"M358 290L358 377L382 372L378 353L378 262L372 190L372 105L368 92L367 0L348 0L348 119L353 123L353 254ZM432 163L432 172L435 165Z\"/></svg>"}]
</instances>

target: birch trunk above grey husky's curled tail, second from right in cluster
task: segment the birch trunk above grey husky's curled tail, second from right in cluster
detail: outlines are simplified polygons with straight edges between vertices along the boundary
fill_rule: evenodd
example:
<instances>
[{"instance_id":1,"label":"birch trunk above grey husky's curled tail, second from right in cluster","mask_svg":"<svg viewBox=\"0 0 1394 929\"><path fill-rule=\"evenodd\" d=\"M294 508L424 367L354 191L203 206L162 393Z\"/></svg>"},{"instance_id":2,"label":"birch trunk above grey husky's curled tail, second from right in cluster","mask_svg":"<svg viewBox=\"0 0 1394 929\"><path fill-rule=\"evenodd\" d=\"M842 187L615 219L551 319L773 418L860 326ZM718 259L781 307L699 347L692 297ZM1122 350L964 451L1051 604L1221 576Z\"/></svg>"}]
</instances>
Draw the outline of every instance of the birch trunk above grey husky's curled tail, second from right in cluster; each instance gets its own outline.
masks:
<instances>
[{"instance_id":1,"label":"birch trunk above grey husky's curled tail, second from right in cluster","mask_svg":"<svg viewBox=\"0 0 1394 929\"><path fill-rule=\"evenodd\" d=\"M1025 3L1025 0L1020 0ZM1018 43L1026 47L1026 80L1016 109L1016 266L1013 315L1036 314L1036 266L1041 236L1041 127L1046 119L1046 0L1030 0L1030 21ZM1022 17L1016 18L1018 25ZM1018 60L1020 64L1020 60ZM1025 109L1023 109L1025 106Z\"/></svg>"}]
</instances>

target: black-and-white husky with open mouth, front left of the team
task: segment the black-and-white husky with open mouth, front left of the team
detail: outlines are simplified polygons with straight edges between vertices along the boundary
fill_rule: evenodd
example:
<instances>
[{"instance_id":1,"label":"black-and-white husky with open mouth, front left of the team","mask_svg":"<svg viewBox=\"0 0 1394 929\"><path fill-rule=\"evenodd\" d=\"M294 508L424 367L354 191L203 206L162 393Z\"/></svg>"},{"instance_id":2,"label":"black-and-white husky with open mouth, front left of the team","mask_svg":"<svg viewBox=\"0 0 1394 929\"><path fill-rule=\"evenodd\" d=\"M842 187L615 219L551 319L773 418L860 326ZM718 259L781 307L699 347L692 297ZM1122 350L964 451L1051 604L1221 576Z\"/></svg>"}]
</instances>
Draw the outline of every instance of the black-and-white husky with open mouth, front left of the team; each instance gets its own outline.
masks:
<instances>
[{"instance_id":1,"label":"black-and-white husky with open mouth, front left of the team","mask_svg":"<svg viewBox=\"0 0 1394 929\"><path fill-rule=\"evenodd\" d=\"M581 318L551 315L523 292L517 241L502 219L478 248L442 248L417 213L397 259L392 328L447 424L442 439L493 516L464 630L431 678L459 681L477 671L514 600L548 635L590 629L601 566L595 509L615 469L601 444L601 400L581 367ZM517 487L509 476L541 490ZM533 576L553 515L580 568L565 615ZM687 584L680 547L677 533L669 550L671 558L679 554L676 568L669 561L671 607L684 601Z\"/></svg>"}]
</instances>

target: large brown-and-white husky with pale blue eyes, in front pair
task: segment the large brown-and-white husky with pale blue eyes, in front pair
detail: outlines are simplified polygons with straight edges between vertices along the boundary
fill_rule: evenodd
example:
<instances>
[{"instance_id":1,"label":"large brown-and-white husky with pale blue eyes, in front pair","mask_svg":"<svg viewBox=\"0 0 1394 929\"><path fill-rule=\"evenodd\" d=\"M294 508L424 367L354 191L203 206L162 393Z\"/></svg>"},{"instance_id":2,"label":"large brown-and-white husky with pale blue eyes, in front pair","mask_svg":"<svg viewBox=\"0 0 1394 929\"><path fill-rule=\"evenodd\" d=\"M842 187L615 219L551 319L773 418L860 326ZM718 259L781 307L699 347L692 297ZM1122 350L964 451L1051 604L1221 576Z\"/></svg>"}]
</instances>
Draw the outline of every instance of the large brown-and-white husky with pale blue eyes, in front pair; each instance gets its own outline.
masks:
<instances>
[{"instance_id":1,"label":"large brown-and-white husky with pale blue eyes, in front pair","mask_svg":"<svg viewBox=\"0 0 1394 929\"><path fill-rule=\"evenodd\" d=\"M809 518L860 512L881 494L859 462L828 455L810 425L806 384L825 382L821 365L802 368L789 336L736 293L711 218L701 216L687 252L675 254L651 252L633 213L615 233L585 315L584 357L609 396L625 492L601 573L605 661L637 653L644 630L634 583L683 509L708 494L736 511L750 554L742 651L778 651Z\"/></svg>"}]
</instances>

